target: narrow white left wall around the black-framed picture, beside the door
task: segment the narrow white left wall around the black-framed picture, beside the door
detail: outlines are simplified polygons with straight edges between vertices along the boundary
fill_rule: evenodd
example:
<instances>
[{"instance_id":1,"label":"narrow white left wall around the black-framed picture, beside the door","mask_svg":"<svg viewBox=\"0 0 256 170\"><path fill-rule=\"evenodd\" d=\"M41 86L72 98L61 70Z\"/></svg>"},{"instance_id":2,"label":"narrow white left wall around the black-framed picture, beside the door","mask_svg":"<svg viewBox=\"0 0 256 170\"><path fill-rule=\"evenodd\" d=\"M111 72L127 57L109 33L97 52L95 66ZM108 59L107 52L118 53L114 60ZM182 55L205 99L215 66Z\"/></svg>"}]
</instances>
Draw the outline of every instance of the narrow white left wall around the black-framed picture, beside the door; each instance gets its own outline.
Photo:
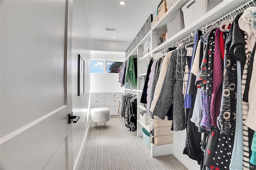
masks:
<instances>
[{"instance_id":1,"label":"narrow white left wall around the black-framed picture, beside the door","mask_svg":"<svg viewBox=\"0 0 256 170\"><path fill-rule=\"evenodd\" d=\"M88 130L88 104L90 98L90 26L84 0L73 2L72 28L72 111L73 115L80 116L80 120L73 124L73 155L74 169L78 162L83 142ZM85 63L84 94L78 96L78 54ZM88 121L89 120L89 121ZM87 122L86 122L87 121Z\"/></svg>"}]
</instances>

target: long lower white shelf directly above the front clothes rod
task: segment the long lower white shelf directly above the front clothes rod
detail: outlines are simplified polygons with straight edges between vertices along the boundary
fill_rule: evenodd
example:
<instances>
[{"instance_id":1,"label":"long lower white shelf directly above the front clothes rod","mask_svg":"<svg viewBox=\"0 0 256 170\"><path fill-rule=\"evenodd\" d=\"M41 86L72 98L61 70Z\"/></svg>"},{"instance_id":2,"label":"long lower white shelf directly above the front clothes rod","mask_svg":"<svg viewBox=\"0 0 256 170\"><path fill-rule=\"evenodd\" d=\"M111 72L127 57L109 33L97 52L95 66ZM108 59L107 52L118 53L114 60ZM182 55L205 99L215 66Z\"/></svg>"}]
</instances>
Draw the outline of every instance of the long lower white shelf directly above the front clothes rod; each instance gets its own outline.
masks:
<instances>
[{"instance_id":1,"label":"long lower white shelf directly above the front clothes rod","mask_svg":"<svg viewBox=\"0 0 256 170\"><path fill-rule=\"evenodd\" d=\"M167 46L175 44L177 41L180 41L180 40L188 37L190 32L195 32L196 29L205 27L206 24L209 24L212 21L220 18L221 16L223 16L226 13L226 11L232 10L233 8L237 7L240 4L241 4L240 1L236 1L236 0L225 1L224 0L223 2L221 2L220 4L218 4L217 6L212 8L212 10L208 11L206 14L204 14L200 18L198 18L195 21L193 21L192 23L190 23L188 26L186 26L180 32L178 32L177 34L175 34L174 36L172 36L171 38L166 40L164 43L162 43L159 46L157 46L156 48L154 48L152 50L152 53L161 51L164 48L166 48ZM162 24L164 24L164 23L162 23Z\"/></svg>"}]
</instances>

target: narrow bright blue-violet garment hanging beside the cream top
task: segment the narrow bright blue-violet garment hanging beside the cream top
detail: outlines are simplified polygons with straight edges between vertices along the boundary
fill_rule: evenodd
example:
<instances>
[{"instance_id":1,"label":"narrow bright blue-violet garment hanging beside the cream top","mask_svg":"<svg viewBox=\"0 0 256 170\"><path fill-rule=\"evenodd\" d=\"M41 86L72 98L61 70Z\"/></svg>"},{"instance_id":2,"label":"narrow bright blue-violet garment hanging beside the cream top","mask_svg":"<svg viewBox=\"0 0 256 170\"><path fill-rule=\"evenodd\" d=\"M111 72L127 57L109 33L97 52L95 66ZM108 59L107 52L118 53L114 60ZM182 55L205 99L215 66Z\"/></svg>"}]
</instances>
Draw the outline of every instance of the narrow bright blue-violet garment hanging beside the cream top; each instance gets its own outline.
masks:
<instances>
[{"instance_id":1,"label":"narrow bright blue-violet garment hanging beside the cream top","mask_svg":"<svg viewBox=\"0 0 256 170\"><path fill-rule=\"evenodd\" d=\"M192 68L192 63L194 61L194 55L195 55L195 51L196 51L196 45L197 45L197 39L198 39L198 33L196 33L195 35L195 41L194 41L194 47L193 47L193 56L191 58L191 64L190 64L190 68L189 68L189 74L188 74L188 83L187 83L187 90L186 90L186 95L184 98L184 108L191 108L192 107L192 96L191 94L187 94L188 93L188 85L189 85L189 78L190 78L190 74L192 74L190 72L191 68ZM193 82L194 84L194 82Z\"/></svg>"}]
</instances>

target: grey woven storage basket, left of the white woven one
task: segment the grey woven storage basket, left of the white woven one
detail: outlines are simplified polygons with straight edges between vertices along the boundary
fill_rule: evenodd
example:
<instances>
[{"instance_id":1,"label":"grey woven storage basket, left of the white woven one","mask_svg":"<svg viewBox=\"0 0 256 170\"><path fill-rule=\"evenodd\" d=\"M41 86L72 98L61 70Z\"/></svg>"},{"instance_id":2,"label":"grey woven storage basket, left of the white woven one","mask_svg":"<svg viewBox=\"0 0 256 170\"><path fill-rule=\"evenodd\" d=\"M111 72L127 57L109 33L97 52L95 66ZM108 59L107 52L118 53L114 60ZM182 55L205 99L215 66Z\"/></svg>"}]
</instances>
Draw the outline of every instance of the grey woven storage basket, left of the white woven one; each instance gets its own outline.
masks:
<instances>
[{"instance_id":1,"label":"grey woven storage basket, left of the white woven one","mask_svg":"<svg viewBox=\"0 0 256 170\"><path fill-rule=\"evenodd\" d=\"M182 10L178 10L171 18L166 22L168 38L174 36L177 32L184 28L184 19Z\"/></svg>"}]
</instances>

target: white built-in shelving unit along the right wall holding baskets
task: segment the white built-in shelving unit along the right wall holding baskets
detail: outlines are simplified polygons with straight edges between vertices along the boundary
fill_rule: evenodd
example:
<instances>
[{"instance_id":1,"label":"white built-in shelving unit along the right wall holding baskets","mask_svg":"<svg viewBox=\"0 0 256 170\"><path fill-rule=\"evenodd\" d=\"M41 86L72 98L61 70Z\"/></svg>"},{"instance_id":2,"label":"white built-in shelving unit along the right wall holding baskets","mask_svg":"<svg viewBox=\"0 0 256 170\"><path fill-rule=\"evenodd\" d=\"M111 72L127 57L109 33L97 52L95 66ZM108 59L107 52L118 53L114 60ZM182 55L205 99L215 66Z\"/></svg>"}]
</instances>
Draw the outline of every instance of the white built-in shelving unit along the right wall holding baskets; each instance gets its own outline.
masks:
<instances>
[{"instance_id":1,"label":"white built-in shelving unit along the right wall holding baskets","mask_svg":"<svg viewBox=\"0 0 256 170\"><path fill-rule=\"evenodd\" d=\"M148 63L149 58L152 56L155 52L159 52L163 50L164 48L171 46L172 44L175 44L176 42L183 40L184 38L188 37L188 35L191 32L195 32L196 29L205 27L206 24L212 23L214 20L220 18L221 16L224 16L227 12L230 10L236 8L240 4L246 2L246 0L223 0L220 4L212 8L212 10L208 11L206 14L201 16L200 18L194 20L192 23L190 23L188 26L186 26L184 29L182 29L180 32L175 34L174 36L170 37L168 40L166 40L164 43L157 46L157 35L156 32L162 28L162 26L166 25L166 22L180 9L182 8L188 0L181 0L176 1L175 4L171 6L171 8L160 18L158 23L154 25L151 30L146 34L146 36L138 43L138 45L134 49L130 49L130 54L126 57L129 58L132 54L137 51L138 56L138 77L139 76L145 76L147 69L148 69ZM143 45L150 41L150 46L152 47L152 50L145 54L143 56ZM138 88L139 89L139 88ZM133 90L135 91L135 90ZM137 136L142 136L141 128L144 127L149 131L149 126L144 124L144 120L140 120L140 112L143 110L145 111L145 108L140 104L140 98L142 95L142 90L136 90L138 95L138 117L137 117ZM182 154L182 149L185 144L186 140L186 130L174 132L174 143L172 144L166 144L161 146L154 146L151 145L151 156L161 156L166 154L174 154L176 158L182 162L187 168L189 169L200 169L197 162L194 160L191 160L188 158L188 156Z\"/></svg>"}]
</instances>

